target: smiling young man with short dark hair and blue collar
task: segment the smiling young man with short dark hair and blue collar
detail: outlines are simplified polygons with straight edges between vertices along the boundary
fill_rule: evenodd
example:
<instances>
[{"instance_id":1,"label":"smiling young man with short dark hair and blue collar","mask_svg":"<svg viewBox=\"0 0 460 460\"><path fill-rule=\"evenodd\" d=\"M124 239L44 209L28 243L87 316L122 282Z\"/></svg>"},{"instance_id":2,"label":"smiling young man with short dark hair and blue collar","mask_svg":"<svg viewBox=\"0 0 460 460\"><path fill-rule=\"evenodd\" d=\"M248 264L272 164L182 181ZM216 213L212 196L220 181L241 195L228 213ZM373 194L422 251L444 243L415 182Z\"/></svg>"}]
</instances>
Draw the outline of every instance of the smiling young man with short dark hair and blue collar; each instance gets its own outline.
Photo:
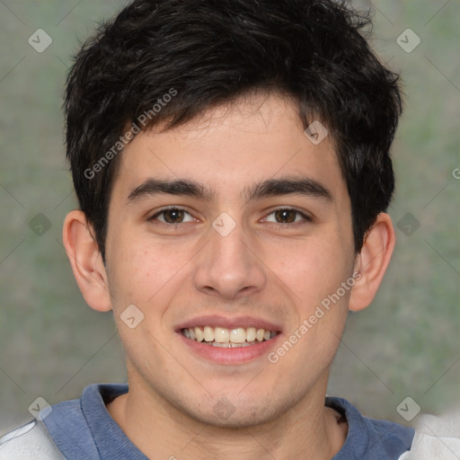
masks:
<instances>
[{"instance_id":1,"label":"smiling young man with short dark hair and blue collar","mask_svg":"<svg viewBox=\"0 0 460 460\"><path fill-rule=\"evenodd\" d=\"M0 458L397 459L414 431L326 397L394 250L397 75L332 0L136 0L79 52L64 243L128 385L91 385Z\"/></svg>"}]
</instances>

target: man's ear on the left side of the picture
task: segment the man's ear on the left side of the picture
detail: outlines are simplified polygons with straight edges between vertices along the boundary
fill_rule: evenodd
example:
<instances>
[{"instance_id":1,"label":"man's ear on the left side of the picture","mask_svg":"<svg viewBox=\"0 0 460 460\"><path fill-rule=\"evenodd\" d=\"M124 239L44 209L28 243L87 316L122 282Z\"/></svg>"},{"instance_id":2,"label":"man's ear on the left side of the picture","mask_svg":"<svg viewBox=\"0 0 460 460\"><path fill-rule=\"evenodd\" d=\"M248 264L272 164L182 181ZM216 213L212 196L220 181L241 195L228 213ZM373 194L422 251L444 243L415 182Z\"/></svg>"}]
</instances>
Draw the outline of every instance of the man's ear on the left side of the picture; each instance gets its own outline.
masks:
<instances>
[{"instance_id":1,"label":"man's ear on the left side of the picture","mask_svg":"<svg viewBox=\"0 0 460 460\"><path fill-rule=\"evenodd\" d=\"M94 241L93 228L82 211L71 211L64 221L62 239L78 287L94 310L111 310L111 296L101 252Z\"/></svg>"}]
</instances>

